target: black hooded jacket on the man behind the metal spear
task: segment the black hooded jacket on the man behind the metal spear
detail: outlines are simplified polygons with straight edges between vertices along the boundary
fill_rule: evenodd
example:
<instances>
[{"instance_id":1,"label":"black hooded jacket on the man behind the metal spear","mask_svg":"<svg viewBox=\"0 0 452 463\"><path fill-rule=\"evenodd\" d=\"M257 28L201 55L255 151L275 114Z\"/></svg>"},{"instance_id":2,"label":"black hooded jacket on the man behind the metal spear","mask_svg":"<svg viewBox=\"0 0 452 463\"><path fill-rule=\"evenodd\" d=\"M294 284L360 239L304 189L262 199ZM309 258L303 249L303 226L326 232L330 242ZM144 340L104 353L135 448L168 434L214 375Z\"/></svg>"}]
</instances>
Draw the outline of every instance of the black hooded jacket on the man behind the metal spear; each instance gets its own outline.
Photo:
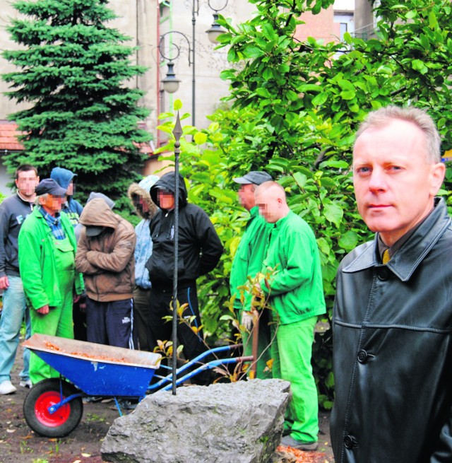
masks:
<instances>
[{"instance_id":1,"label":"black hooded jacket on the man behind the metal spear","mask_svg":"<svg viewBox=\"0 0 452 463\"><path fill-rule=\"evenodd\" d=\"M150 189L157 206L159 189L175 195L175 175L162 175ZM174 269L174 209L160 209L150 222L153 254L146 263L155 289L172 288ZM179 175L179 256L178 284L182 288L194 284L198 276L215 269L223 251L220 238L207 214L199 206L187 203L184 179Z\"/></svg>"}]
</instances>

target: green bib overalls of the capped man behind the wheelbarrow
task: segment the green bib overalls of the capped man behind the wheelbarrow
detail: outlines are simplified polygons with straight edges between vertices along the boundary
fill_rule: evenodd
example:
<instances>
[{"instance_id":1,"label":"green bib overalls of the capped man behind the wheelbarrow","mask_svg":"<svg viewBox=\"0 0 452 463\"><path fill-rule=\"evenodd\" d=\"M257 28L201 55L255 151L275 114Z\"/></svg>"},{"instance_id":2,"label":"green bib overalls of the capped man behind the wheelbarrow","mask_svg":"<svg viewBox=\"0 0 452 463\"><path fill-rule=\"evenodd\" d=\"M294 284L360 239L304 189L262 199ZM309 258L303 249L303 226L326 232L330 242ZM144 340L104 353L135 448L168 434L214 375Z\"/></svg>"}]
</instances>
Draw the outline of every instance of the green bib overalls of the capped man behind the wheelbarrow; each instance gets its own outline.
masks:
<instances>
[{"instance_id":1,"label":"green bib overalls of the capped man behind the wheelbarrow","mask_svg":"<svg viewBox=\"0 0 452 463\"><path fill-rule=\"evenodd\" d=\"M49 334L50 336L73 339L74 250L67 237L64 240L54 239L54 248L55 258L57 259L61 305L50 307L49 313L45 315L36 312L34 308L30 310L31 333ZM42 361L35 353L31 353L30 380L32 384L35 385L37 382L49 377L59 377L59 373Z\"/></svg>"}]
</instances>

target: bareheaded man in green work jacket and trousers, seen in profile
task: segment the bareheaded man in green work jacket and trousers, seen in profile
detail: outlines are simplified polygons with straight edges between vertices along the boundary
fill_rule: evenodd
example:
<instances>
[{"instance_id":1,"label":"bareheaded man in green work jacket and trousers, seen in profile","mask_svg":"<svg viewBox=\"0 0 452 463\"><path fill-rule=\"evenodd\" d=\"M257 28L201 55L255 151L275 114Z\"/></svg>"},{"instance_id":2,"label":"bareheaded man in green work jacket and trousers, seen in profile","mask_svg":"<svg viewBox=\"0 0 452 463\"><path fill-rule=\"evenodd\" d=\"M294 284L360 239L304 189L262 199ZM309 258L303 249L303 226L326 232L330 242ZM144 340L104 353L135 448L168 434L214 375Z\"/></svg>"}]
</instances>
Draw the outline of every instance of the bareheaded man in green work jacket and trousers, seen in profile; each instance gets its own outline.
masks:
<instances>
[{"instance_id":1,"label":"bareheaded man in green work jacket and trousers, seen in profile","mask_svg":"<svg viewBox=\"0 0 452 463\"><path fill-rule=\"evenodd\" d=\"M292 399L286 411L281 445L316 450L319 404L311 355L317 316L326 312L319 249L309 225L287 206L276 182L256 188L259 213L271 225L263 272L270 279L258 288L270 298L276 339L271 346L272 374L290 381Z\"/></svg>"}]
</instances>

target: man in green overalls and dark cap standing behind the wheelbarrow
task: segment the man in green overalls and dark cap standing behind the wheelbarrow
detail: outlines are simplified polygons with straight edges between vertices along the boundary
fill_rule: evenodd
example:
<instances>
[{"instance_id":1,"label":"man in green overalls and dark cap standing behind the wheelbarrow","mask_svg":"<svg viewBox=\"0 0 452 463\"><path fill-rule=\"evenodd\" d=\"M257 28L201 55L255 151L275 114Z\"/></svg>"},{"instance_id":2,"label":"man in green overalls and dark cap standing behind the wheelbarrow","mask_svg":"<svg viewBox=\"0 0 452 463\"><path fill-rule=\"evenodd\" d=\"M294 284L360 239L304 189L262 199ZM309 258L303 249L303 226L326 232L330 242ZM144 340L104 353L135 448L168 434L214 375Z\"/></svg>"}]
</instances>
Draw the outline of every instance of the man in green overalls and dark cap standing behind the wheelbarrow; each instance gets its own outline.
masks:
<instances>
[{"instance_id":1,"label":"man in green overalls and dark cap standing behind the wheelbarrow","mask_svg":"<svg viewBox=\"0 0 452 463\"><path fill-rule=\"evenodd\" d=\"M76 271L76 235L64 212L66 189L44 179L36 187L39 205L24 221L18 237L19 269L30 304L31 334L73 339L72 305L83 293ZM35 353L30 355L33 385L59 373Z\"/></svg>"}]
</instances>

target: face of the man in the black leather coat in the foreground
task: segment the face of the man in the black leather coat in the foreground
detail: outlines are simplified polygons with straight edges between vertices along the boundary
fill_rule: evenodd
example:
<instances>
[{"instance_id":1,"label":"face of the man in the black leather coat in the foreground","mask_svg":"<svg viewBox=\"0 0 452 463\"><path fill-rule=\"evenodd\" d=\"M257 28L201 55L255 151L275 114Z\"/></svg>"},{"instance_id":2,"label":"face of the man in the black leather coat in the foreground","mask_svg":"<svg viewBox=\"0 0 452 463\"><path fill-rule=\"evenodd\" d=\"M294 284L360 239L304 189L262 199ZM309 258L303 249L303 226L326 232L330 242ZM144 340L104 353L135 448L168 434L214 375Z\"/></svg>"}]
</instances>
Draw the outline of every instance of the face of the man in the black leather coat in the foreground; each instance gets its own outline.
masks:
<instances>
[{"instance_id":1,"label":"face of the man in the black leather coat in the foreground","mask_svg":"<svg viewBox=\"0 0 452 463\"><path fill-rule=\"evenodd\" d=\"M444 165L427 162L423 132L394 119L365 130L353 150L353 184L358 211L386 245L393 245L433 207Z\"/></svg>"}]
</instances>

